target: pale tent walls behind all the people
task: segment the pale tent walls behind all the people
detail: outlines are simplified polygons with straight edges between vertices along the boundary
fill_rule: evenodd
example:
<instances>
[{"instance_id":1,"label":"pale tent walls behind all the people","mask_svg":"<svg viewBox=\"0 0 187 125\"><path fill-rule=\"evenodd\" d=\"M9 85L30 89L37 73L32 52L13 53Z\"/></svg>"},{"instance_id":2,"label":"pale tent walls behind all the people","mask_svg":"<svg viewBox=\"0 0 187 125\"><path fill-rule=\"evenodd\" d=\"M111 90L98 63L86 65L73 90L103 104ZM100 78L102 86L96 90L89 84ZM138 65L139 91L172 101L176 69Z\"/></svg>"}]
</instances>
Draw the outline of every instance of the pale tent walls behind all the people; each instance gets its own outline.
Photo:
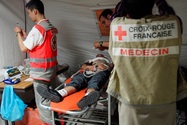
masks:
<instances>
[{"instance_id":1,"label":"pale tent walls behind all the people","mask_svg":"<svg viewBox=\"0 0 187 125\"><path fill-rule=\"evenodd\" d=\"M97 10L113 9L120 0L42 0L45 16L58 29L57 47L59 65L68 65L75 73L85 60L99 53L110 59L108 50L94 49L94 41L107 41L109 35L100 30ZM0 69L20 66L29 58L20 51L14 27L19 25L29 32L35 24L25 10L27 0L0 0ZM180 65L187 67L187 1L167 0L183 22ZM143 9L143 8L142 8ZM157 8L154 8L157 13ZM109 29L105 29L109 32ZM3 123L0 122L1 125Z\"/></svg>"}]
</instances>

